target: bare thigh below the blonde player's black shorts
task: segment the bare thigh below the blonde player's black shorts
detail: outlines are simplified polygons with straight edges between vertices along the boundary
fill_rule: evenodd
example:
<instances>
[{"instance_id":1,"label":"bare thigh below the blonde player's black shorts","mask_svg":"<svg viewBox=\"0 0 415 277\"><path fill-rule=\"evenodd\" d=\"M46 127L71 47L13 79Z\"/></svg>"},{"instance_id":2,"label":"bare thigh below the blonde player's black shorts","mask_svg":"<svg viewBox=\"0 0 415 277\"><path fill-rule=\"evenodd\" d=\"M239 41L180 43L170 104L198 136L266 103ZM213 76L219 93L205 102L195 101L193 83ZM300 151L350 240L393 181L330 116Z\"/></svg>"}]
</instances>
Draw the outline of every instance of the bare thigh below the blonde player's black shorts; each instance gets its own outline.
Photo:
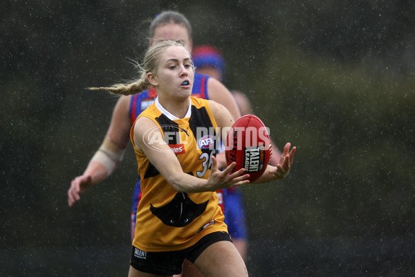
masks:
<instances>
[{"instance_id":1,"label":"bare thigh below the blonde player's black shorts","mask_svg":"<svg viewBox=\"0 0 415 277\"><path fill-rule=\"evenodd\" d=\"M245 262L234 244L228 241L210 245L196 259L194 265L206 277L248 277Z\"/></svg>"}]
</instances>

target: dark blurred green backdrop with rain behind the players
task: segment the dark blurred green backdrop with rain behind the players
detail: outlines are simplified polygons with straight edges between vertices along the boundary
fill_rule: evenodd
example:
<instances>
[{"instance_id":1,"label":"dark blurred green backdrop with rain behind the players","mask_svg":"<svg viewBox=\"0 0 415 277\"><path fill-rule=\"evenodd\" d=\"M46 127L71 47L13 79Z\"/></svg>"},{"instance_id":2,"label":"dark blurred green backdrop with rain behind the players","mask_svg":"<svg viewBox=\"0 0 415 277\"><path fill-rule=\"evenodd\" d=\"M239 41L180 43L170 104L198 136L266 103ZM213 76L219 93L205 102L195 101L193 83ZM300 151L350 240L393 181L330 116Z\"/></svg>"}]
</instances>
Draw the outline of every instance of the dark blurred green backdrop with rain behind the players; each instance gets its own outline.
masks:
<instances>
[{"instance_id":1,"label":"dark blurred green backdrop with rain behind the players","mask_svg":"<svg viewBox=\"0 0 415 277\"><path fill-rule=\"evenodd\" d=\"M210 3L203 3L210 2ZM68 208L149 21L167 9L214 44L291 174L242 188L250 276L414 276L413 1L0 3L0 276L127 276L136 161Z\"/></svg>"}]
</instances>

